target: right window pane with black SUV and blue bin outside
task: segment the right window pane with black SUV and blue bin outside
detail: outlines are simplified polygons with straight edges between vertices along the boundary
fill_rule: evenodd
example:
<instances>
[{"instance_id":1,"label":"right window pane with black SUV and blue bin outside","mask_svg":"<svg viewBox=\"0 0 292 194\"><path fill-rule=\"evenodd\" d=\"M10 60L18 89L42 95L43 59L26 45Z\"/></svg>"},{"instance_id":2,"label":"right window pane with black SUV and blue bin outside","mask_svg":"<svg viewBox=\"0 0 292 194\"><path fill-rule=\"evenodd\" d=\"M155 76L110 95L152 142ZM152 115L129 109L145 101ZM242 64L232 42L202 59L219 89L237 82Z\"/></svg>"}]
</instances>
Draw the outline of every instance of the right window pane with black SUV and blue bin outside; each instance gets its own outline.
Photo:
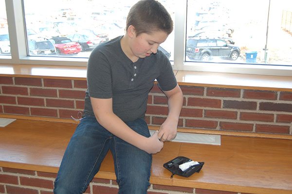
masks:
<instances>
[{"instance_id":1,"label":"right window pane with black SUV and blue bin outside","mask_svg":"<svg viewBox=\"0 0 292 194\"><path fill-rule=\"evenodd\" d=\"M221 40L218 46L229 44L240 49L237 60L230 52L224 63L246 64L253 53L252 63L291 66L292 34L287 30L289 14L285 11L291 9L288 4L285 0L187 0L186 39L216 38ZM215 53L209 53L209 62L222 63ZM185 61L201 58L190 59L187 54Z\"/></svg>"}]
</instances>

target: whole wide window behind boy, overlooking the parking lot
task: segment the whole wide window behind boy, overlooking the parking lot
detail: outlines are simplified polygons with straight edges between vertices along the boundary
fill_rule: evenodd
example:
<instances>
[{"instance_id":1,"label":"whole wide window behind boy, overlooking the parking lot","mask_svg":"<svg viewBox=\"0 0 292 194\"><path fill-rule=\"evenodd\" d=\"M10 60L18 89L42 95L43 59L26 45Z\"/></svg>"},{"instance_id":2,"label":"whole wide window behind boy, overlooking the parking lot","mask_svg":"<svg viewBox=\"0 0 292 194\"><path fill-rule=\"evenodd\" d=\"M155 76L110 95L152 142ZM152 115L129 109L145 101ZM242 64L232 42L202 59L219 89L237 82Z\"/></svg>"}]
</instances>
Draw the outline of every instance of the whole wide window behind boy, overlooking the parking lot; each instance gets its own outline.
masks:
<instances>
[{"instance_id":1,"label":"whole wide window behind boy, overlooking the parking lot","mask_svg":"<svg viewBox=\"0 0 292 194\"><path fill-rule=\"evenodd\" d=\"M174 21L174 32L159 48L174 69L292 75L292 2L159 1ZM12 48L6 54L10 58L0 54L0 63L86 66L92 49L125 33L135 2L51 0L44 5L40 0L0 0L2 15L5 6L11 10L3 18L11 28ZM8 32L8 24L4 29Z\"/></svg>"}]
</instances>

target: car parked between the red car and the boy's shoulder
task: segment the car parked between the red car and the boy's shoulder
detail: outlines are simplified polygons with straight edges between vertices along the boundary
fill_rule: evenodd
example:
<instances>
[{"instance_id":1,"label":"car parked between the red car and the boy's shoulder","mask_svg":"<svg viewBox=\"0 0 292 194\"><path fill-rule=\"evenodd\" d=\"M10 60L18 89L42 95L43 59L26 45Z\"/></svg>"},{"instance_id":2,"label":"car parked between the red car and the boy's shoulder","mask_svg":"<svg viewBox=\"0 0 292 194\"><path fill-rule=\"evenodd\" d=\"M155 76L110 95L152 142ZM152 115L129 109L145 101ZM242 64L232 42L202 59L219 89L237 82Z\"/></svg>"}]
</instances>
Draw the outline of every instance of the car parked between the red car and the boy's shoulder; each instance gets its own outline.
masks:
<instances>
[{"instance_id":1,"label":"car parked between the red car and the boy's shoulder","mask_svg":"<svg viewBox=\"0 0 292 194\"><path fill-rule=\"evenodd\" d=\"M73 33L68 35L67 38L73 42L78 42L81 46L81 51L94 49L100 43L104 42L102 38L89 33Z\"/></svg>"}]
</instances>

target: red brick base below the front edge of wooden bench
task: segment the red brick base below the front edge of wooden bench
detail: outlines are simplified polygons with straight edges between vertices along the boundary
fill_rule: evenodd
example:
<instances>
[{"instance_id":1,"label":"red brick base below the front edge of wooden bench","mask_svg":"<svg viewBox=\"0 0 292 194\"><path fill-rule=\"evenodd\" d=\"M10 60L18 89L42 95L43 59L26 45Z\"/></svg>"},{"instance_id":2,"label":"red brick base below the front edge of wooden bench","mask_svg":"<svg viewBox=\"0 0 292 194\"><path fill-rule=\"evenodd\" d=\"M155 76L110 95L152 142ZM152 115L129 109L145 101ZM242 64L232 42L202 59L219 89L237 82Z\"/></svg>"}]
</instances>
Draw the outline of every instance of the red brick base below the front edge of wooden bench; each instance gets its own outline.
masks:
<instances>
[{"instance_id":1,"label":"red brick base below the front edge of wooden bench","mask_svg":"<svg viewBox=\"0 0 292 194\"><path fill-rule=\"evenodd\" d=\"M53 194L56 174L0 167L0 194ZM85 194L117 194L115 180L93 178ZM237 194L235 192L150 185L148 194Z\"/></svg>"}]
</instances>

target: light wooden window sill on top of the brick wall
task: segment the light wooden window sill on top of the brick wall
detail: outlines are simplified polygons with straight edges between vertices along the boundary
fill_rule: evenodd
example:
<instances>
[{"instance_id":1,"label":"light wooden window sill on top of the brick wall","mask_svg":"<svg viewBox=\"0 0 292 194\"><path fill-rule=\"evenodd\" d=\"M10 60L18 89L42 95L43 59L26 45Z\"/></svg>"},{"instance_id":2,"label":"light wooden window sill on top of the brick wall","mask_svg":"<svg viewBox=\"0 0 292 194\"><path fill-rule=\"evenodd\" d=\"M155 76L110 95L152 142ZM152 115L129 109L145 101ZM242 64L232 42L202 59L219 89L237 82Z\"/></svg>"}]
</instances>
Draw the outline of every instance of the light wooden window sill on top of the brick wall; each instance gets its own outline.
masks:
<instances>
[{"instance_id":1,"label":"light wooden window sill on top of the brick wall","mask_svg":"<svg viewBox=\"0 0 292 194\"><path fill-rule=\"evenodd\" d=\"M86 79L86 67L1 64L0 76ZM174 70L180 85L292 91L292 77Z\"/></svg>"}]
</instances>

